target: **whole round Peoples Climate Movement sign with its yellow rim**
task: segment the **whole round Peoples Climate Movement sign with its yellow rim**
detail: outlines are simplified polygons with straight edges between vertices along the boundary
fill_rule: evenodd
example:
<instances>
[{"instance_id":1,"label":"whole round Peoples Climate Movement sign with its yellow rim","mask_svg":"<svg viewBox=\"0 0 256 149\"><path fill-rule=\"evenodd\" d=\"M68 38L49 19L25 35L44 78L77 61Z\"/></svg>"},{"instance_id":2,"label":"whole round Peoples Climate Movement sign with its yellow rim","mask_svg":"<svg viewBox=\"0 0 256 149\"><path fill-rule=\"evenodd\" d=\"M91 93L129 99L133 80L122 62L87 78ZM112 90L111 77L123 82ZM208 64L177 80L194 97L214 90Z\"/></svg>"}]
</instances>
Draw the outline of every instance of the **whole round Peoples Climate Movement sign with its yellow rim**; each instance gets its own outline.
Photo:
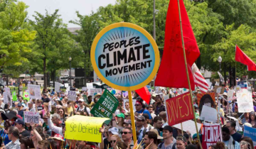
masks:
<instances>
[{"instance_id":1,"label":"whole round Peoples Climate Movement sign with its yellow rim","mask_svg":"<svg viewBox=\"0 0 256 149\"><path fill-rule=\"evenodd\" d=\"M125 91L146 86L159 68L156 42L132 23L114 23L102 29L92 43L90 56L98 77Z\"/></svg>"}]
</instances>

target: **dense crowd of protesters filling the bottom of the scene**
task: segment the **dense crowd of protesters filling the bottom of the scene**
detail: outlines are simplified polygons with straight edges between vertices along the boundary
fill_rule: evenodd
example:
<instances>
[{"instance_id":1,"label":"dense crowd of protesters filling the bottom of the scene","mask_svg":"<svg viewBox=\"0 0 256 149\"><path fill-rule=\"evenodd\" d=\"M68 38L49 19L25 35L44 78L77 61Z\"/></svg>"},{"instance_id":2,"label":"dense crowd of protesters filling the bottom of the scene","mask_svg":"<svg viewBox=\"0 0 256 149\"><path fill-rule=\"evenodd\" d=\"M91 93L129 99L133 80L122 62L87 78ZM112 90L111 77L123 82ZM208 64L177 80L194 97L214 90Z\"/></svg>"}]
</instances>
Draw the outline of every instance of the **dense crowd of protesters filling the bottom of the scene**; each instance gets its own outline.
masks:
<instances>
[{"instance_id":1,"label":"dense crowd of protesters filling the bottom of the scene","mask_svg":"<svg viewBox=\"0 0 256 149\"><path fill-rule=\"evenodd\" d=\"M216 123L222 124L222 142L210 145L209 148L254 148L251 138L242 135L243 126L256 127L255 111L250 113L238 113L238 104L235 96L233 101L227 101L228 87L224 94L215 94L215 106L218 106L220 100L220 111L223 120ZM169 92L163 89L161 93L153 92L151 94L150 104L146 104L140 96L133 92L133 99L137 99L134 109L137 142L133 140L132 120L128 103L123 99L127 96L115 95L119 101L119 106L112 116L111 122L104 124L100 128L102 133L101 143L92 143L82 140L65 139L65 121L70 116L82 115L92 116L90 110L100 99L100 94L87 96L87 92L76 89L76 101L69 101L65 92L54 92L54 89L43 89L42 99L31 99L26 101L22 96L18 96L18 101L12 105L4 104L2 96L4 89L1 89L0 96L0 148L100 148L100 149L127 149L135 148L141 143L140 148L149 149L184 149L200 148L199 140L203 142L200 131L200 138L197 134L191 134L189 131L181 132L178 128L169 126L167 121L166 107L164 105L164 96L178 96L181 94L178 90ZM193 105L196 113L200 113L196 94L200 90L193 92ZM208 92L213 92L209 90ZM87 96L87 101L82 96ZM252 96L255 96L252 89ZM51 101L51 102L49 102ZM51 111L49 111L49 103ZM124 105L124 106L123 106ZM212 105L213 106L213 105ZM256 110L256 106L254 106ZM41 116L39 123L24 123L23 111L38 111ZM220 115L221 115L220 114ZM238 121L230 120L227 116L233 116ZM220 116L221 118L221 116ZM202 123L199 118L198 123Z\"/></svg>"}]
</instances>

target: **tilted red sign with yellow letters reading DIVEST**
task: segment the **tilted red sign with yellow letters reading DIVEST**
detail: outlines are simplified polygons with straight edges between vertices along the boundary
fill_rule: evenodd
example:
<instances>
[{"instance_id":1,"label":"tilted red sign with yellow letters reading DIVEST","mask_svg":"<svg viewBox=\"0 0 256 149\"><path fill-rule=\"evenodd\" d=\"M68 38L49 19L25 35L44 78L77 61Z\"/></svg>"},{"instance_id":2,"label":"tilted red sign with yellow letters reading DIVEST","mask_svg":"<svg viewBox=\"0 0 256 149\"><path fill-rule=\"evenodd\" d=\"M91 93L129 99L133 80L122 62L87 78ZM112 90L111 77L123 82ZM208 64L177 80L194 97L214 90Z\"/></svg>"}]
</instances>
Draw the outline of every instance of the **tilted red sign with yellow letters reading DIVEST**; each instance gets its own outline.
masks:
<instances>
[{"instance_id":1,"label":"tilted red sign with yellow letters reading DIVEST","mask_svg":"<svg viewBox=\"0 0 256 149\"><path fill-rule=\"evenodd\" d=\"M166 100L166 109L169 126L188 121L193 118L193 109L189 93L175 96Z\"/></svg>"}]
</instances>

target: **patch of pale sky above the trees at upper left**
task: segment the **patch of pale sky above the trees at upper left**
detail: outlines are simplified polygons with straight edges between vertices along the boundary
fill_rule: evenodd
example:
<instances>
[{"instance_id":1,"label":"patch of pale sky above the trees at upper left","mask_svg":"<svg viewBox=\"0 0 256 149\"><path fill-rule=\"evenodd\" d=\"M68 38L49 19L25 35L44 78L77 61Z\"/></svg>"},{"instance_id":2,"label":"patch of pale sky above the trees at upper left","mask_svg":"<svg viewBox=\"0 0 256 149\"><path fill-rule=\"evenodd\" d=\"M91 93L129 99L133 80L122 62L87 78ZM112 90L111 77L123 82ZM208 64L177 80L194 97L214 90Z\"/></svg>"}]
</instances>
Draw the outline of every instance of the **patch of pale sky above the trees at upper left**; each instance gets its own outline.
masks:
<instances>
[{"instance_id":1,"label":"patch of pale sky above the trees at upper left","mask_svg":"<svg viewBox=\"0 0 256 149\"><path fill-rule=\"evenodd\" d=\"M33 20L35 11L45 14L54 13L55 9L59 9L58 14L63 19L63 23L68 24L68 28L79 27L73 23L68 23L70 20L78 19L75 11L79 11L82 15L88 15L92 11L97 11L100 6L115 4L116 0L19 0L28 5L28 18Z\"/></svg>"}]
</instances>

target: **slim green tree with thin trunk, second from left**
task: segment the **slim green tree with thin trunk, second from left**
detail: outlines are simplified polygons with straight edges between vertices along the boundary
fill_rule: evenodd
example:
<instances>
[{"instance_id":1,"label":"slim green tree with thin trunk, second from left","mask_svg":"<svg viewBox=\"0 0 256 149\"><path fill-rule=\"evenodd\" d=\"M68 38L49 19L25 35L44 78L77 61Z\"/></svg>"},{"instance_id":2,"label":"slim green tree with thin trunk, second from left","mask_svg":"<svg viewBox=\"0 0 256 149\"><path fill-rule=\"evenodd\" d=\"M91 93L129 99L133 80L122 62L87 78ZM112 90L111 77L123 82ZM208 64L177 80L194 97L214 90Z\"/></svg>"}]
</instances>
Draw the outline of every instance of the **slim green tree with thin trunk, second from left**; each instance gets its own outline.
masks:
<instances>
[{"instance_id":1,"label":"slim green tree with thin trunk, second from left","mask_svg":"<svg viewBox=\"0 0 256 149\"><path fill-rule=\"evenodd\" d=\"M29 21L33 26L33 29L37 32L35 43L38 45L36 51L39 53L38 58L43 60L43 87L47 87L47 60L49 58L50 47L54 39L59 38L56 34L58 29L63 28L62 20L58 15L58 9L53 14L49 14L46 11L46 16L36 12L36 16L33 16L36 21Z\"/></svg>"}]
</instances>

